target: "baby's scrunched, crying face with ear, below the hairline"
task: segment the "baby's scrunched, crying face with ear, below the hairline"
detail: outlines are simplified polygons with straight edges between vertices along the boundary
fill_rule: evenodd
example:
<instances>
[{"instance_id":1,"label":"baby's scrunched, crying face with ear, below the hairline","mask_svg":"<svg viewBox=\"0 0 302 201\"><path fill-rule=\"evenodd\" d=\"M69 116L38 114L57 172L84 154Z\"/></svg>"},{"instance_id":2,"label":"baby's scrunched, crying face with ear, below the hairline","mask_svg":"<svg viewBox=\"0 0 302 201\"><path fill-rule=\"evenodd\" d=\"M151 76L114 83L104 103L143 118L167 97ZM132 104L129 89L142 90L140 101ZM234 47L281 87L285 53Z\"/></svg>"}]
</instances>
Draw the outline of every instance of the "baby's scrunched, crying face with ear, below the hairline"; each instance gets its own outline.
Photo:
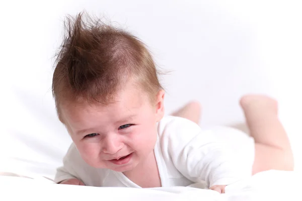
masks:
<instances>
[{"instance_id":1,"label":"baby's scrunched, crying face with ear, below the hairline","mask_svg":"<svg viewBox=\"0 0 302 201\"><path fill-rule=\"evenodd\" d=\"M161 91L154 106L145 93L128 87L107 106L69 104L61 112L75 146L89 165L124 172L153 154L156 123L164 115L163 100Z\"/></svg>"}]
</instances>

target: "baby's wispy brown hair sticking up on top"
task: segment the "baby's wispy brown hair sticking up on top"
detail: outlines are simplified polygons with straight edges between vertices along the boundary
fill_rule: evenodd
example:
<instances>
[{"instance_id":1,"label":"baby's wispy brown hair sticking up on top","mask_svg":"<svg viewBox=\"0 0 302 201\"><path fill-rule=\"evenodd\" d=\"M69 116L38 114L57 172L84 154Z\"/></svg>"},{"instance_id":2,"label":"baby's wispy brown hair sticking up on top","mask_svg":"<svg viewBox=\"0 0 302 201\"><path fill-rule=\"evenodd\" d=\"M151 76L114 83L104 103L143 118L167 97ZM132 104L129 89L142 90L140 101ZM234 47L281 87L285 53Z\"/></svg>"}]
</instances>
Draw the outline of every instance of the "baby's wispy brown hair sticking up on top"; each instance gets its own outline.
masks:
<instances>
[{"instance_id":1,"label":"baby's wispy brown hair sticking up on top","mask_svg":"<svg viewBox=\"0 0 302 201\"><path fill-rule=\"evenodd\" d=\"M66 31L56 55L52 93L62 100L109 103L130 79L153 100L162 89L146 46L130 33L83 13L64 22Z\"/></svg>"}]
</instances>

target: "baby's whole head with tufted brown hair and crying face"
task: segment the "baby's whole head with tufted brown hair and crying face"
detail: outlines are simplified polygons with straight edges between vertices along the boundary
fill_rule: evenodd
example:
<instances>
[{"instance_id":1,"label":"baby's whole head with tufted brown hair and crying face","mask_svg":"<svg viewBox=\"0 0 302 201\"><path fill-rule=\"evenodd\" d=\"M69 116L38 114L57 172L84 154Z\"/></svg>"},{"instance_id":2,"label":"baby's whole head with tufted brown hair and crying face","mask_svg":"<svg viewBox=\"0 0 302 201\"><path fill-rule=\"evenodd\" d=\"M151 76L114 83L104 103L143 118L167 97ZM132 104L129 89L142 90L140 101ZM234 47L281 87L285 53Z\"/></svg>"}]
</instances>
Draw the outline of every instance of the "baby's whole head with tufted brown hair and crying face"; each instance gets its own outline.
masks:
<instances>
[{"instance_id":1,"label":"baby's whole head with tufted brown hair and crying face","mask_svg":"<svg viewBox=\"0 0 302 201\"><path fill-rule=\"evenodd\" d=\"M153 58L136 37L82 14L65 28L52 82L58 117L89 165L131 170L152 156L164 116Z\"/></svg>"}]
</instances>

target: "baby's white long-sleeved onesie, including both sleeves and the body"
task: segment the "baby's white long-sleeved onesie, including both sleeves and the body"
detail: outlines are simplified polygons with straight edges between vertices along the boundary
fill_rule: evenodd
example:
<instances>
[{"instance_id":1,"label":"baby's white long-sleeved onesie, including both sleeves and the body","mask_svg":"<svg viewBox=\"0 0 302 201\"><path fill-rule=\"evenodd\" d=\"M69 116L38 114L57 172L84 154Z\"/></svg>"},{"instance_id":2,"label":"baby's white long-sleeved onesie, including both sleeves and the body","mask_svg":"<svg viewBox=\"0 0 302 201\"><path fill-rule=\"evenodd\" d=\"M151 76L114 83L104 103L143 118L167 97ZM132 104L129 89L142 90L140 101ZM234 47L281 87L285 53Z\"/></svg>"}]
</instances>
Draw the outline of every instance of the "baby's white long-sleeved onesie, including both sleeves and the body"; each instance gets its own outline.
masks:
<instances>
[{"instance_id":1,"label":"baby's white long-sleeved onesie, including both sleeves and the body","mask_svg":"<svg viewBox=\"0 0 302 201\"><path fill-rule=\"evenodd\" d=\"M208 187L228 185L251 173L253 142L246 141L243 145L241 140L237 146L241 148L236 150L233 141L238 139L233 134L237 133L235 137L239 136L238 133L245 136L238 130L224 127L202 130L187 119L173 116L164 117L157 127L158 140L154 152L162 187L202 182ZM223 132L224 138L228 135L233 138L232 146L221 143L224 141L221 140L224 139L221 137ZM89 186L140 187L122 172L91 167L81 158L73 143L63 159L63 166L57 169L55 182L68 178L81 179Z\"/></svg>"}]
</instances>

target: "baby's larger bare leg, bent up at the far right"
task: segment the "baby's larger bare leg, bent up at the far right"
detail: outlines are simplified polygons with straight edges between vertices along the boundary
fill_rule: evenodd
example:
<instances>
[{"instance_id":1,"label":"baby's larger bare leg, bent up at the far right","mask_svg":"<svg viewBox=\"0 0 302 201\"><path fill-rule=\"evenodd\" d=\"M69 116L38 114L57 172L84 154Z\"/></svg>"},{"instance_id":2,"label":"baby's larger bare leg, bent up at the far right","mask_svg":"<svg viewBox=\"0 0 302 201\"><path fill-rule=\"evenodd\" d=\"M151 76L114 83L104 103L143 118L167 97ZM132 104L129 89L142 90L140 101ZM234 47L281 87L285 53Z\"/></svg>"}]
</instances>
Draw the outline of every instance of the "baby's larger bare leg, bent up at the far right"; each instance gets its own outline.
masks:
<instances>
[{"instance_id":1,"label":"baby's larger bare leg, bent up at the far right","mask_svg":"<svg viewBox=\"0 0 302 201\"><path fill-rule=\"evenodd\" d=\"M255 139L253 174L270 169L293 170L293 155L278 119L276 100L264 95L246 95L240 104L250 135Z\"/></svg>"}]
</instances>

